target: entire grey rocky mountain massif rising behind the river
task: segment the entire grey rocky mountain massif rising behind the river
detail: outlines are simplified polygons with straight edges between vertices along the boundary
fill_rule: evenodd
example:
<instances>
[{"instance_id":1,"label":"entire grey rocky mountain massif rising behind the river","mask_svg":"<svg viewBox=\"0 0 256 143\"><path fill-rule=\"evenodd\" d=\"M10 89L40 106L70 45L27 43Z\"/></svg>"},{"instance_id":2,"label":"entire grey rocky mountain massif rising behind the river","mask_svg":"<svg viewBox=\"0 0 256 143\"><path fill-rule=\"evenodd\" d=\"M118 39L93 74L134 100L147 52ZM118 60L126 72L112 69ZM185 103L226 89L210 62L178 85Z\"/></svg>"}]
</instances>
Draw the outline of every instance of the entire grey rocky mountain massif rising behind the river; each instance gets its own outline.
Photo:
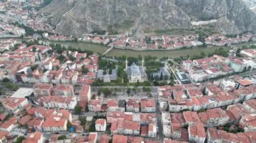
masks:
<instances>
[{"instance_id":1,"label":"entire grey rocky mountain massif rising behind the river","mask_svg":"<svg viewBox=\"0 0 256 143\"><path fill-rule=\"evenodd\" d=\"M65 35L110 28L129 34L191 29L192 21L211 19L219 32L256 33L256 15L242 0L53 0L41 12Z\"/></svg>"}]
</instances>

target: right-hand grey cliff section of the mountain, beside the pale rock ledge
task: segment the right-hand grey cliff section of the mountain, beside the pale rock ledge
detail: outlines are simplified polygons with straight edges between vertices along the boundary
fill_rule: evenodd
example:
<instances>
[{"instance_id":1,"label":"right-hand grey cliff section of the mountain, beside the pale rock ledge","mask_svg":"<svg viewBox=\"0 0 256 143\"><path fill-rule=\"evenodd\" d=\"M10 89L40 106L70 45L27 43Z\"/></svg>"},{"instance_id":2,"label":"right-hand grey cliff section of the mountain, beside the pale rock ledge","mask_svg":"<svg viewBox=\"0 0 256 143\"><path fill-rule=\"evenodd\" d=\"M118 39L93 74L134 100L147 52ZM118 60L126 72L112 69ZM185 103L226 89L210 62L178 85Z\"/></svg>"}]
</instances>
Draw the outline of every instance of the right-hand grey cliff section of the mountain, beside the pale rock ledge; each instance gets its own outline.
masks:
<instances>
[{"instance_id":1,"label":"right-hand grey cliff section of the mountain, beside the pale rock ledge","mask_svg":"<svg viewBox=\"0 0 256 143\"><path fill-rule=\"evenodd\" d=\"M218 19L220 32L256 32L255 13L241 0L175 0L175 4L197 20Z\"/></svg>"}]
</instances>

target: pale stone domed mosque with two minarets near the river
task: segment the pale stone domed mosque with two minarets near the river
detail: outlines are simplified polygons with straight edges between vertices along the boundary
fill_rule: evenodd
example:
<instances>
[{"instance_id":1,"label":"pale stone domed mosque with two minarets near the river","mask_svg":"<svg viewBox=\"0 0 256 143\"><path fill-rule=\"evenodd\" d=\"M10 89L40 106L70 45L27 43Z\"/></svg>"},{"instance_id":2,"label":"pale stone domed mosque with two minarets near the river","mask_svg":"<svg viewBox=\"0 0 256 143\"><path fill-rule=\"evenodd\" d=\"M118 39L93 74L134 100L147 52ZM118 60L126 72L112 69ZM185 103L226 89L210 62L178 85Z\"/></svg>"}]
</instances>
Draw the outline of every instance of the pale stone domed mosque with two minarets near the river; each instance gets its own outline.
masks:
<instances>
[{"instance_id":1,"label":"pale stone domed mosque with two minarets near the river","mask_svg":"<svg viewBox=\"0 0 256 143\"><path fill-rule=\"evenodd\" d=\"M135 62L128 66L128 60L125 61L125 71L128 75L129 83L141 83L147 80L146 68L144 68L144 59L142 60L142 65L137 66Z\"/></svg>"}]
</instances>

